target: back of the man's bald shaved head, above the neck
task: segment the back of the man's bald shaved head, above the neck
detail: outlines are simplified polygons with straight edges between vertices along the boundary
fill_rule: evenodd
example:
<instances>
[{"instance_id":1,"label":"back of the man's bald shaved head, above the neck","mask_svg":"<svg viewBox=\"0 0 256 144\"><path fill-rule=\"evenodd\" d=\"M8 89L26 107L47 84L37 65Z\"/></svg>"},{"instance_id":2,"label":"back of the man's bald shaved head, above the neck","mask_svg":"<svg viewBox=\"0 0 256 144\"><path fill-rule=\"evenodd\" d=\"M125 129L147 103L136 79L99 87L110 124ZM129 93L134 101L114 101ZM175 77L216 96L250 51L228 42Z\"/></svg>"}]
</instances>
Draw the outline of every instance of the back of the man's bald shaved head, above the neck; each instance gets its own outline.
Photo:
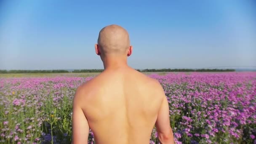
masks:
<instances>
[{"instance_id":1,"label":"back of the man's bald shaved head, above the neck","mask_svg":"<svg viewBox=\"0 0 256 144\"><path fill-rule=\"evenodd\" d=\"M125 54L130 46L128 32L118 25L109 25L99 32L98 45L101 53Z\"/></svg>"}]
</instances>

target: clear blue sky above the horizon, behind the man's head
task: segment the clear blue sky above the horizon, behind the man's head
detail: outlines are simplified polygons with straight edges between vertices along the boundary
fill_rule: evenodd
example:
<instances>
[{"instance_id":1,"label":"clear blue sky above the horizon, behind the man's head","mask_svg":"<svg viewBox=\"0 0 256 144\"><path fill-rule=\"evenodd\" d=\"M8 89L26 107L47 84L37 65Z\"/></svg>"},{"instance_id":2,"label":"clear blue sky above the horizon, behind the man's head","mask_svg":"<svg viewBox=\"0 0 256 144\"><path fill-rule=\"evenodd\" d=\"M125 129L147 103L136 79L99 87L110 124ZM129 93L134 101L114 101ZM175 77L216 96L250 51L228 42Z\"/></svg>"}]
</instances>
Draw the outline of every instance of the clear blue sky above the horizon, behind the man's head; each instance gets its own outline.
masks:
<instances>
[{"instance_id":1,"label":"clear blue sky above the horizon, behind the man's head","mask_svg":"<svg viewBox=\"0 0 256 144\"><path fill-rule=\"evenodd\" d=\"M102 69L109 24L128 30L133 68L256 65L253 0L0 0L0 69Z\"/></svg>"}]
</instances>

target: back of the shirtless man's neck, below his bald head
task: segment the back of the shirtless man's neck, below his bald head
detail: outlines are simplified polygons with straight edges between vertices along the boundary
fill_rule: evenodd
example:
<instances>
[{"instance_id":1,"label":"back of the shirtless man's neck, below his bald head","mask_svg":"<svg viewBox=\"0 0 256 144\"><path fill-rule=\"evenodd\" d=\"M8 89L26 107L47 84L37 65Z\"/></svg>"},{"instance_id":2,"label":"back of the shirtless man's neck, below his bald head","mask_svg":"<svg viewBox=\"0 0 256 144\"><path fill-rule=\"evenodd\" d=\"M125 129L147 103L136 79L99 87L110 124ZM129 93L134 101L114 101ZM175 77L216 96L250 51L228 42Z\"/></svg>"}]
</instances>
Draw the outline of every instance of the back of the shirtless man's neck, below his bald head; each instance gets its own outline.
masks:
<instances>
[{"instance_id":1,"label":"back of the shirtless man's neck, below his bald head","mask_svg":"<svg viewBox=\"0 0 256 144\"><path fill-rule=\"evenodd\" d=\"M127 58L124 57L117 57L117 56L113 56L113 57L105 57L104 61L104 69L120 69L120 68L125 68L128 67L127 64Z\"/></svg>"}]
</instances>

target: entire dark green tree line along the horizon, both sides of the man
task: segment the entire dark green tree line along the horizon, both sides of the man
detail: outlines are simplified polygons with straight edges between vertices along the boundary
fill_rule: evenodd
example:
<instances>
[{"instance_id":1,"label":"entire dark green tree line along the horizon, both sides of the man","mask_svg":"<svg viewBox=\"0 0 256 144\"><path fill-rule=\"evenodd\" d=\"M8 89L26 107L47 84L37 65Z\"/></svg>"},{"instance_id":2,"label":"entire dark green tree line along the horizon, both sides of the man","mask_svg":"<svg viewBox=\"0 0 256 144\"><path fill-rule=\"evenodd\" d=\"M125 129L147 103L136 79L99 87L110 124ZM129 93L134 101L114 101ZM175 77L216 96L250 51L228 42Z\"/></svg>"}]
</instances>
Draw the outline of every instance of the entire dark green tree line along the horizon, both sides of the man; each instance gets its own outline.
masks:
<instances>
[{"instance_id":1,"label":"entire dark green tree line along the horizon, both sides of the man","mask_svg":"<svg viewBox=\"0 0 256 144\"><path fill-rule=\"evenodd\" d=\"M72 72L103 72L104 69L75 69ZM235 69L136 69L139 72L235 72ZM0 70L0 73L68 73L67 70Z\"/></svg>"}]
</instances>

